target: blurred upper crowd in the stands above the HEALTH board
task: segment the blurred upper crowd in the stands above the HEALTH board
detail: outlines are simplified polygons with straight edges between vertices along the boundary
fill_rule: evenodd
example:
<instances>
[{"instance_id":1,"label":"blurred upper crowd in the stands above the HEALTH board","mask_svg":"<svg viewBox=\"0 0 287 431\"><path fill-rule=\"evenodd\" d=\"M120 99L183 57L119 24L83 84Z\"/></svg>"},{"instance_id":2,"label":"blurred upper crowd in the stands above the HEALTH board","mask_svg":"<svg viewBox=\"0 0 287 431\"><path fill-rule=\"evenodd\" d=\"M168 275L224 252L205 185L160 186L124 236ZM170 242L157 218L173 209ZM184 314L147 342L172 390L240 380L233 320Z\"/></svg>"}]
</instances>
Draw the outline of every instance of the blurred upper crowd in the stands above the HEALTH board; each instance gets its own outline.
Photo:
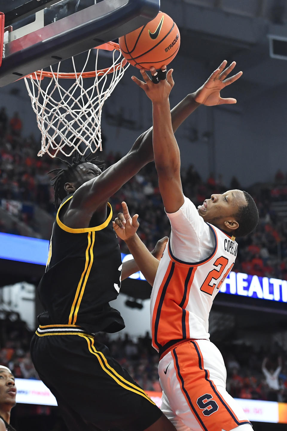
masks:
<instances>
[{"instance_id":1,"label":"blurred upper crowd in the stands above the HEALTH board","mask_svg":"<svg viewBox=\"0 0 287 431\"><path fill-rule=\"evenodd\" d=\"M49 182L51 176L46 173L61 166L61 162L46 155L37 157L39 142L33 135L22 137L21 131L22 122L18 113L15 112L9 119L5 108L1 108L0 209L11 214L11 220L7 223L0 212L0 231L21 234L18 223L21 222L31 228L31 234L34 232L40 237L35 205L51 217L55 216L53 190ZM103 152L100 156L110 166L122 155ZM213 193L242 189L235 177L230 184L224 184L222 175L214 178L211 174L207 181L203 181L192 165L182 169L182 186L185 195L196 206ZM287 279L287 222L272 205L286 201L287 178L278 171L272 184L255 184L247 191L256 200L260 221L255 232L238 239L238 257L234 269L251 275ZM139 235L148 249L152 250L158 239L170 234L170 224L164 214L153 163L145 166L111 197L114 214L121 211L123 200L132 214L139 214ZM49 234L45 239L49 239ZM128 252L125 244L120 243L120 247L123 253Z\"/></svg>"}]
</instances>

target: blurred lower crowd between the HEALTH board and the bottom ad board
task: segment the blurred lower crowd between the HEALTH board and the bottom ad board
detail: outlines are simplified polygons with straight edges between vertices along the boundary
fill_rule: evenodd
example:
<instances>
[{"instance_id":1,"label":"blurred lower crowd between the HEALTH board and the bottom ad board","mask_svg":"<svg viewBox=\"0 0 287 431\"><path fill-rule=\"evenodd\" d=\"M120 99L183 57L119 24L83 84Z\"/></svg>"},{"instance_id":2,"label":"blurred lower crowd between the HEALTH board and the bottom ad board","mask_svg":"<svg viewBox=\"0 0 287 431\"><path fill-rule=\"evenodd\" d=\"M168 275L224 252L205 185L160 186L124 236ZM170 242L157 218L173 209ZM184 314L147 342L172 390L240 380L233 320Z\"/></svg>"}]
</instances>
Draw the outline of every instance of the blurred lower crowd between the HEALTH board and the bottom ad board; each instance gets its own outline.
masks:
<instances>
[{"instance_id":1,"label":"blurred lower crowd between the HEALTH board and the bottom ad board","mask_svg":"<svg viewBox=\"0 0 287 431\"><path fill-rule=\"evenodd\" d=\"M9 367L17 378L39 379L29 353L32 334L19 317L11 320L8 313L0 320L0 364ZM108 346L111 355L144 390L161 391L158 354L148 333L139 338L119 334L116 339L99 333L96 339ZM218 347L232 397L287 402L287 354L278 345L268 351L267 347L255 350L245 344L222 343Z\"/></svg>"}]
</instances>

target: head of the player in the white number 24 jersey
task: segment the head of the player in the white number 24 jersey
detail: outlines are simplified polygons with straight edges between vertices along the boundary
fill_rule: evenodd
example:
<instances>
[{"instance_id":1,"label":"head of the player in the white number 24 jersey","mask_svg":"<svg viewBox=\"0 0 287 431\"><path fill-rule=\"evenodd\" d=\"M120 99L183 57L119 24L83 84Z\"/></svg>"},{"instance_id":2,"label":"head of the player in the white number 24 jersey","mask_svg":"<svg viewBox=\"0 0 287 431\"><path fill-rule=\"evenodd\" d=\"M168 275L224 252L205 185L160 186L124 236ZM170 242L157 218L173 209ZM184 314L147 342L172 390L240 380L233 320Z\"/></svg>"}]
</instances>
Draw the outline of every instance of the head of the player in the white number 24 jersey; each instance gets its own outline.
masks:
<instances>
[{"instance_id":1,"label":"head of the player in the white number 24 jersey","mask_svg":"<svg viewBox=\"0 0 287 431\"><path fill-rule=\"evenodd\" d=\"M237 189L212 194L210 199L198 206L198 213L205 222L235 237L243 237L252 232L259 220L253 198L246 191Z\"/></svg>"}]
</instances>

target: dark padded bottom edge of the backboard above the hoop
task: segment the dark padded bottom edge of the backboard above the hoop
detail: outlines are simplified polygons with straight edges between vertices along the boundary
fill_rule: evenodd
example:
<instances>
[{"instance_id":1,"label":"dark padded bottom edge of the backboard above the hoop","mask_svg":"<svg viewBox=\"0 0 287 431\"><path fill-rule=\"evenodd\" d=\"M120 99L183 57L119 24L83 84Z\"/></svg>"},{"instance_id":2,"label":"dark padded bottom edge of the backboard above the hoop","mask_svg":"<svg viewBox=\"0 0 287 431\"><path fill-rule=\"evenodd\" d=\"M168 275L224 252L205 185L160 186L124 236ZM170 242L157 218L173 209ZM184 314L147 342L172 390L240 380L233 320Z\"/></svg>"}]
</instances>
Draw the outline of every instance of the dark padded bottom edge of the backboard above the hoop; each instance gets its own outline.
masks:
<instances>
[{"instance_id":1,"label":"dark padded bottom edge of the backboard above the hoop","mask_svg":"<svg viewBox=\"0 0 287 431\"><path fill-rule=\"evenodd\" d=\"M103 0L5 44L0 87L112 41L153 19L160 0Z\"/></svg>"}]
</instances>

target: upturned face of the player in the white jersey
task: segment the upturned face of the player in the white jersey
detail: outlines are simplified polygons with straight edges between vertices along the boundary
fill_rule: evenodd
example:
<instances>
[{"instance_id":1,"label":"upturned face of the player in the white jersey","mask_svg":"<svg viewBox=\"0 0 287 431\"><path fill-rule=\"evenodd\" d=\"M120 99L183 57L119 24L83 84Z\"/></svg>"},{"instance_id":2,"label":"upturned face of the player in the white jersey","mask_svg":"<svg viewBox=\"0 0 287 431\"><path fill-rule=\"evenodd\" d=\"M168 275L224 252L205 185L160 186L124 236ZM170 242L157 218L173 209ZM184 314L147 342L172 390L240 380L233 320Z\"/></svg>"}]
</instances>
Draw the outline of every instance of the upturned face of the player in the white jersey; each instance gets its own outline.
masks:
<instances>
[{"instance_id":1,"label":"upturned face of the player in the white jersey","mask_svg":"<svg viewBox=\"0 0 287 431\"><path fill-rule=\"evenodd\" d=\"M247 205L243 191L228 190L223 194L212 194L202 205L198 206L198 214L205 222L224 229L224 222L237 214L241 206Z\"/></svg>"}]
</instances>

